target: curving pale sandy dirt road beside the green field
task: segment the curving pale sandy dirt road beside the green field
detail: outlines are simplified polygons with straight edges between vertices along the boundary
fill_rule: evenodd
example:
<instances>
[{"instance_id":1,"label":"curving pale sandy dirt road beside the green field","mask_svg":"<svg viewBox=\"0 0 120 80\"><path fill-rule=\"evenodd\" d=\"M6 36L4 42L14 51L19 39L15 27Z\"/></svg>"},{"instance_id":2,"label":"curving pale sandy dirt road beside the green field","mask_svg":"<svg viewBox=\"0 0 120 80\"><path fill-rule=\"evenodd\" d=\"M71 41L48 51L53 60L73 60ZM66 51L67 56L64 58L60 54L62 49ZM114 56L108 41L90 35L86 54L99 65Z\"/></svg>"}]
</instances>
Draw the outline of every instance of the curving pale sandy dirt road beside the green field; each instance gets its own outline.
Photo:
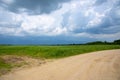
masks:
<instances>
[{"instance_id":1,"label":"curving pale sandy dirt road beside the green field","mask_svg":"<svg viewBox=\"0 0 120 80\"><path fill-rule=\"evenodd\" d=\"M0 80L120 80L120 50L56 60L4 75Z\"/></svg>"}]
</instances>

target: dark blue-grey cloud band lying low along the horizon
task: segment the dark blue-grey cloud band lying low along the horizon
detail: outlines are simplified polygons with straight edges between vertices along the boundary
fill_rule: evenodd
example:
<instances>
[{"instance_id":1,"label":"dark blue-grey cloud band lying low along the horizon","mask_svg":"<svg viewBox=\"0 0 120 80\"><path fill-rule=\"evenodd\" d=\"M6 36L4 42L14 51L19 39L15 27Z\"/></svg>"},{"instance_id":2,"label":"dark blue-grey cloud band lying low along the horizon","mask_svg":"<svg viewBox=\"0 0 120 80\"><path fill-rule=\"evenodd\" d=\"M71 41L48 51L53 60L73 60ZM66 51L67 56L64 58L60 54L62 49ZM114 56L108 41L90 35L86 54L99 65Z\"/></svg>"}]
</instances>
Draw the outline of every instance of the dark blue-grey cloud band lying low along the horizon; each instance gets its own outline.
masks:
<instances>
[{"instance_id":1,"label":"dark blue-grey cloud band lying low along the horizon","mask_svg":"<svg viewBox=\"0 0 120 80\"><path fill-rule=\"evenodd\" d=\"M93 38L71 37L71 36L3 36L0 34L0 44L73 44L95 41Z\"/></svg>"}]
</instances>

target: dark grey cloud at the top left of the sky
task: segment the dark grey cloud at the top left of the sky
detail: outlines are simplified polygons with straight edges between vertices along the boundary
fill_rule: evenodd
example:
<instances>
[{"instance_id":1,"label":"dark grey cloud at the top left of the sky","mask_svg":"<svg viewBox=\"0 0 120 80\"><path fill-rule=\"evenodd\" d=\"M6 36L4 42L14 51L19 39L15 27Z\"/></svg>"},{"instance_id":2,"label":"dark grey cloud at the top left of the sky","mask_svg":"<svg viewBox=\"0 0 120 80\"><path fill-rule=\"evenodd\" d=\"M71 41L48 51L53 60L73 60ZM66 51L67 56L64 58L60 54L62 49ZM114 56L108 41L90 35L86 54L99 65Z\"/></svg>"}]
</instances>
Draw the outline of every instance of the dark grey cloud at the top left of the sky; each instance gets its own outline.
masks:
<instances>
[{"instance_id":1,"label":"dark grey cloud at the top left of the sky","mask_svg":"<svg viewBox=\"0 0 120 80\"><path fill-rule=\"evenodd\" d=\"M0 6L15 12L27 12L28 14L50 13L61 7L61 3L70 0L14 0L8 4L0 0Z\"/></svg>"}]
</instances>

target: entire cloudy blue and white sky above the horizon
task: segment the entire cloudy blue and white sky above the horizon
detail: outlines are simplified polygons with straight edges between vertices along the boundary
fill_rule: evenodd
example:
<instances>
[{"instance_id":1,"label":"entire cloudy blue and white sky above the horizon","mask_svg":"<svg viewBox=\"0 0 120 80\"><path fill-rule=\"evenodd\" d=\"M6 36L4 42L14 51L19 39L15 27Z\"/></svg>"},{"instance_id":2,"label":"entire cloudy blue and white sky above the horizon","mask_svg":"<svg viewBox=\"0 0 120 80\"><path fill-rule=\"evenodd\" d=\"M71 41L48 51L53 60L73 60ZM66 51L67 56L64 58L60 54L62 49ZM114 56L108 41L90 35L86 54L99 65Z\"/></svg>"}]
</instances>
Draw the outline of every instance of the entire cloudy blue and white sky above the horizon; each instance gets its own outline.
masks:
<instances>
[{"instance_id":1,"label":"entire cloudy blue and white sky above the horizon","mask_svg":"<svg viewBox=\"0 0 120 80\"><path fill-rule=\"evenodd\" d=\"M120 39L120 0L0 0L0 44Z\"/></svg>"}]
</instances>

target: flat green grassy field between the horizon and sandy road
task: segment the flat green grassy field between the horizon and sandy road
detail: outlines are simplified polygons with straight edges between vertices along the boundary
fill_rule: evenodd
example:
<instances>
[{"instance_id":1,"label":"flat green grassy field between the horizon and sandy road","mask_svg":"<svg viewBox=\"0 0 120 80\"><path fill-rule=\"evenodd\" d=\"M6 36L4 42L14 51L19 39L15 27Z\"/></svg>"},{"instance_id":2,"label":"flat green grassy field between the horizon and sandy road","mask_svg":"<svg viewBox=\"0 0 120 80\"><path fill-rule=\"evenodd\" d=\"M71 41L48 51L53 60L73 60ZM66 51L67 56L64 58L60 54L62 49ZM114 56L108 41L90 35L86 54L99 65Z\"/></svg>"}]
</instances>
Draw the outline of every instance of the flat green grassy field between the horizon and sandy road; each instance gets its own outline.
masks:
<instances>
[{"instance_id":1,"label":"flat green grassy field between the horizon and sandy road","mask_svg":"<svg viewBox=\"0 0 120 80\"><path fill-rule=\"evenodd\" d=\"M37 59L58 59L111 49L120 49L120 45L0 46L0 75L9 72L15 67L2 59L2 56L5 55L27 56Z\"/></svg>"}]
</instances>

